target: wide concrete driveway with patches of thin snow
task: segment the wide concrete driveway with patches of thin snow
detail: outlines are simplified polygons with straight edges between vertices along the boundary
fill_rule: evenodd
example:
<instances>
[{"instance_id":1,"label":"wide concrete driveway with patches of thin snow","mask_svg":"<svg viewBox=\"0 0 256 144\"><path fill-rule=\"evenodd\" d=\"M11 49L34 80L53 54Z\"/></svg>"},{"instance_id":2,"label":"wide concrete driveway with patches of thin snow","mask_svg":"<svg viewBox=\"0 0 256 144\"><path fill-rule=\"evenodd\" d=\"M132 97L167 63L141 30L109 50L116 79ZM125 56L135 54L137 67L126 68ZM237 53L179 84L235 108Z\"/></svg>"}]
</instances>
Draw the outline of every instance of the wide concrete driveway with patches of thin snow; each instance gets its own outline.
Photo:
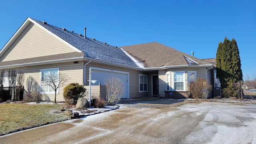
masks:
<instances>
[{"instance_id":1,"label":"wide concrete driveway with patches of thin snow","mask_svg":"<svg viewBox=\"0 0 256 144\"><path fill-rule=\"evenodd\" d=\"M122 100L120 108L0 137L16 144L255 144L256 105Z\"/></svg>"}]
</instances>

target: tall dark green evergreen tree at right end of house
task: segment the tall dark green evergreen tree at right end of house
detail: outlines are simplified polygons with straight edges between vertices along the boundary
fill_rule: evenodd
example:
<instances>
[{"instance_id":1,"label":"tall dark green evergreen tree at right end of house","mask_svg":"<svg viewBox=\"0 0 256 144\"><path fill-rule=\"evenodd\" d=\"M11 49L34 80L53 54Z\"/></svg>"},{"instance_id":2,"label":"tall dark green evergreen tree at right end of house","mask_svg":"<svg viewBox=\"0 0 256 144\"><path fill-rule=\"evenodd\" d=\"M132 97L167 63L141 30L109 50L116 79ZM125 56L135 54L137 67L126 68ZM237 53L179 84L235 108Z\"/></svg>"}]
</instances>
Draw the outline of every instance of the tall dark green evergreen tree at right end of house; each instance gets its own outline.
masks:
<instances>
[{"instance_id":1,"label":"tall dark green evergreen tree at right end of house","mask_svg":"<svg viewBox=\"0 0 256 144\"><path fill-rule=\"evenodd\" d=\"M224 91L229 89L229 95L232 95L234 89L232 84L242 80L241 60L236 40L231 41L226 37L224 42L218 44L216 52L216 71L217 78L220 80Z\"/></svg>"}]
</instances>

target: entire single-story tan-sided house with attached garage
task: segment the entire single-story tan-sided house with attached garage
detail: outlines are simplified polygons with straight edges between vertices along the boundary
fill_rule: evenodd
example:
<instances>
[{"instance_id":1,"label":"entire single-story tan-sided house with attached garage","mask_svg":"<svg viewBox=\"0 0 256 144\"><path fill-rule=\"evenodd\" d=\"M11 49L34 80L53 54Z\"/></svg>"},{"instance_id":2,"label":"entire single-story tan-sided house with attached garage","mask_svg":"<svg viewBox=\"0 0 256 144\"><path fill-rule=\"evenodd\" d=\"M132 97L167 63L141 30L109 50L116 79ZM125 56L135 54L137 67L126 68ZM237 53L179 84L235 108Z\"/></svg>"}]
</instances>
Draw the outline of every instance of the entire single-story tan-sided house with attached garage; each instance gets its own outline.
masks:
<instances>
[{"instance_id":1,"label":"entire single-story tan-sided house with attached garage","mask_svg":"<svg viewBox=\"0 0 256 144\"><path fill-rule=\"evenodd\" d=\"M86 34L86 32L85 32ZM54 91L42 86L44 74L68 75L71 82L84 86L104 85L110 76L125 85L122 98L145 96L188 97L188 84L197 77L214 84L215 65L157 42L117 47L76 34L44 21L27 18L0 51L0 70L24 72L27 91L54 100ZM5 85L6 82L5 81ZM60 87L56 100L63 101Z\"/></svg>"}]
</instances>

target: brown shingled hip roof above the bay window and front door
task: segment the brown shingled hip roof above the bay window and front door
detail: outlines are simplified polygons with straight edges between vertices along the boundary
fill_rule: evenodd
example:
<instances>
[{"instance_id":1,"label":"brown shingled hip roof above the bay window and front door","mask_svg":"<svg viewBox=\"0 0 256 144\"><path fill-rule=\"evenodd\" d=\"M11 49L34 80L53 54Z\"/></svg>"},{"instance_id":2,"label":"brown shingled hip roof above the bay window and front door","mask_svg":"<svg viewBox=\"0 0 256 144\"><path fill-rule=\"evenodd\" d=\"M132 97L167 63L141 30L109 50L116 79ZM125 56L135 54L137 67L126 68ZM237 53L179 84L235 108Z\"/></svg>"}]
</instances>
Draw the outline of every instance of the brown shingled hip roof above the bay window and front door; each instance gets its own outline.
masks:
<instances>
[{"instance_id":1,"label":"brown shingled hip roof above the bay window and front door","mask_svg":"<svg viewBox=\"0 0 256 144\"><path fill-rule=\"evenodd\" d=\"M138 60L138 62L142 62L145 68L211 65L210 62L200 60L158 42L122 46L120 48Z\"/></svg>"}]
</instances>

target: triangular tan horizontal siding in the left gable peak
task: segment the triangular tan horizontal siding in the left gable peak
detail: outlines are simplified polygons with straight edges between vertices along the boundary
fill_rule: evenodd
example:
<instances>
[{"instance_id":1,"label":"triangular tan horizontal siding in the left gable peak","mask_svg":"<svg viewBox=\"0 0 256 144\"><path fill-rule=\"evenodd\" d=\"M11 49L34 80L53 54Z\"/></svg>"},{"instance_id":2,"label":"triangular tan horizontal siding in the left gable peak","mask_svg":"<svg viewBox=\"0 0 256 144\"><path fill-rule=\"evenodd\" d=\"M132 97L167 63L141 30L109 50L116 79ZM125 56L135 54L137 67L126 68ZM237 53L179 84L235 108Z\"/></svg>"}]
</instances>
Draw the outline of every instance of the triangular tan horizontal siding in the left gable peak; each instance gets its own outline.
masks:
<instances>
[{"instance_id":1,"label":"triangular tan horizontal siding in the left gable peak","mask_svg":"<svg viewBox=\"0 0 256 144\"><path fill-rule=\"evenodd\" d=\"M0 57L0 62L76 52L32 22Z\"/></svg>"}]
</instances>

